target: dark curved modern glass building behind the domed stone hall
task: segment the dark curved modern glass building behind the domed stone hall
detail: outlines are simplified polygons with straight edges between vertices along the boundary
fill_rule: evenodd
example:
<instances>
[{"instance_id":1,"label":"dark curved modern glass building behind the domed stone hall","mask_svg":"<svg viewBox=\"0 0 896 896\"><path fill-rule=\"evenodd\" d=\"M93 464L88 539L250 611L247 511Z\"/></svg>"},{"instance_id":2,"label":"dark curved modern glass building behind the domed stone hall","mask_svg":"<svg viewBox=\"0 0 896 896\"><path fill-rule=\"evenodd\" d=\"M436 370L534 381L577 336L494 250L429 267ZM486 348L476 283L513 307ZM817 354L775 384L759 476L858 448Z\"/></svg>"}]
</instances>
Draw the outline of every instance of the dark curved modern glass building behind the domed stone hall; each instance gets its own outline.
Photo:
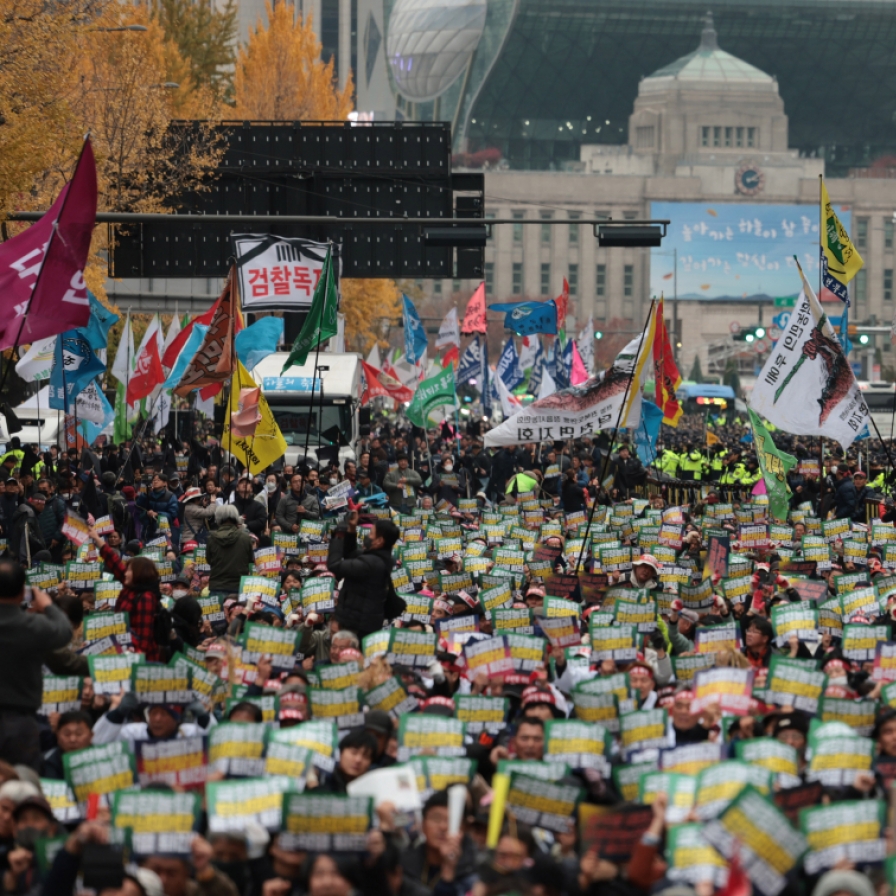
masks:
<instances>
[{"instance_id":1,"label":"dark curved modern glass building behind the domed stone hall","mask_svg":"<svg viewBox=\"0 0 896 896\"><path fill-rule=\"evenodd\" d=\"M627 142L639 82L694 51L708 8L725 50L777 79L792 148L828 176L896 157L896 0L385 0L399 115L453 120L459 152L563 168Z\"/></svg>"}]
</instances>

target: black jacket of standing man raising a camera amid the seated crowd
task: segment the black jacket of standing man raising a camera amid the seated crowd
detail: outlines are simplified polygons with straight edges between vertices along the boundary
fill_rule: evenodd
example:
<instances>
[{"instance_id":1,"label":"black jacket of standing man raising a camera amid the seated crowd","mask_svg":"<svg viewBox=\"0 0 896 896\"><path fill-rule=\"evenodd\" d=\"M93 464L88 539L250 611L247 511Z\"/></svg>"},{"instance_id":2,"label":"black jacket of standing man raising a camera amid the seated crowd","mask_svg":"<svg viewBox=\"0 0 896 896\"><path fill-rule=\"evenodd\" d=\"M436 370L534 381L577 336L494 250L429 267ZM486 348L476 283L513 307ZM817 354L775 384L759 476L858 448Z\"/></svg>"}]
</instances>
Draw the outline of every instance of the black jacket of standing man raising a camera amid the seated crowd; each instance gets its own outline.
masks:
<instances>
[{"instance_id":1,"label":"black jacket of standing man raising a camera amid the seated crowd","mask_svg":"<svg viewBox=\"0 0 896 896\"><path fill-rule=\"evenodd\" d=\"M392 551L362 551L358 537L342 527L333 533L327 569L342 579L336 621L359 638L379 631L385 621L387 585L394 561Z\"/></svg>"}]
</instances>

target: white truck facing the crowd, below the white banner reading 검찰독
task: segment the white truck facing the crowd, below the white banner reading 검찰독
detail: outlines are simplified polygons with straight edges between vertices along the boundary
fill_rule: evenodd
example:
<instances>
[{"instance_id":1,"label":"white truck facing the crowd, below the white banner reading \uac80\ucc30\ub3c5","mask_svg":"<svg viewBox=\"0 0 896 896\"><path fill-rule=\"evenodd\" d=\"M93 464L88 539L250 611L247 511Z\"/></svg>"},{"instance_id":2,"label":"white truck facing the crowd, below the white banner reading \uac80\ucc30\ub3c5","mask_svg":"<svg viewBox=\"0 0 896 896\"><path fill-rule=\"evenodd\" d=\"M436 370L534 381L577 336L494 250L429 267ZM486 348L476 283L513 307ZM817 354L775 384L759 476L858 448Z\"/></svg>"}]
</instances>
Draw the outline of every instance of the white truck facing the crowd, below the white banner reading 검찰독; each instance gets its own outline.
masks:
<instances>
[{"instance_id":1,"label":"white truck facing the crowd, below the white banner reading \uac80\ucc30\ub3c5","mask_svg":"<svg viewBox=\"0 0 896 896\"><path fill-rule=\"evenodd\" d=\"M286 439L284 463L297 464L307 458L318 463L318 448L336 444L323 433L335 426L348 442L339 447L339 466L356 460L355 448L360 437L358 409L361 405L361 356L321 352L315 376L314 353L302 367L290 367L282 376L286 352L265 358L252 377L261 386L277 425ZM306 451L307 444L307 451Z\"/></svg>"}]
</instances>

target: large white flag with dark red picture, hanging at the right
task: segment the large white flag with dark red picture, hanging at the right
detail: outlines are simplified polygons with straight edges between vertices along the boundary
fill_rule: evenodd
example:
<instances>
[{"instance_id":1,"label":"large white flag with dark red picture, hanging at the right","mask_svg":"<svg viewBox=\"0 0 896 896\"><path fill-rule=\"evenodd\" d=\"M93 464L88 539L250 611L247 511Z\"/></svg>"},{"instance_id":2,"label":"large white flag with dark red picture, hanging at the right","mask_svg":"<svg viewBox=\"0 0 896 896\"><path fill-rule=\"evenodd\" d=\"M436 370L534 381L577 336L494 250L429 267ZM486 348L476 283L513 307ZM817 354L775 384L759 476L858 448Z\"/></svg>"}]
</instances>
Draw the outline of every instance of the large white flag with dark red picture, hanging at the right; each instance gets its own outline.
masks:
<instances>
[{"instance_id":1,"label":"large white flag with dark red picture, hanging at the right","mask_svg":"<svg viewBox=\"0 0 896 896\"><path fill-rule=\"evenodd\" d=\"M845 451L869 411L837 336L797 262L803 290L750 395L750 407L778 429L824 436Z\"/></svg>"}]
</instances>

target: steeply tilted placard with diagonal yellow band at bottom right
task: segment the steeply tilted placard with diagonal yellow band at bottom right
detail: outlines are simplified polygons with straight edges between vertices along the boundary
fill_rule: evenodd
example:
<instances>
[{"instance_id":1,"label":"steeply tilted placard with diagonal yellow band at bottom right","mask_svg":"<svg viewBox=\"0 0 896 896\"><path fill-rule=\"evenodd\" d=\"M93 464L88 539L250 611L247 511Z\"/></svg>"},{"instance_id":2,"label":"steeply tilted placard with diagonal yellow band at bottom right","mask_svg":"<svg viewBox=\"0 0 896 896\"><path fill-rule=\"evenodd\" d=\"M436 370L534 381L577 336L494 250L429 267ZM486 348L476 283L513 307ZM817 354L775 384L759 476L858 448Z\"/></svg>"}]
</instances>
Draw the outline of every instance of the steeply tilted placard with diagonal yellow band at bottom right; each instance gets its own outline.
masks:
<instances>
[{"instance_id":1,"label":"steeply tilted placard with diagonal yellow band at bottom right","mask_svg":"<svg viewBox=\"0 0 896 896\"><path fill-rule=\"evenodd\" d=\"M729 861L738 853L747 877L765 896L778 896L806 851L805 838L784 813L750 786L704 826L703 835Z\"/></svg>"}]
</instances>

